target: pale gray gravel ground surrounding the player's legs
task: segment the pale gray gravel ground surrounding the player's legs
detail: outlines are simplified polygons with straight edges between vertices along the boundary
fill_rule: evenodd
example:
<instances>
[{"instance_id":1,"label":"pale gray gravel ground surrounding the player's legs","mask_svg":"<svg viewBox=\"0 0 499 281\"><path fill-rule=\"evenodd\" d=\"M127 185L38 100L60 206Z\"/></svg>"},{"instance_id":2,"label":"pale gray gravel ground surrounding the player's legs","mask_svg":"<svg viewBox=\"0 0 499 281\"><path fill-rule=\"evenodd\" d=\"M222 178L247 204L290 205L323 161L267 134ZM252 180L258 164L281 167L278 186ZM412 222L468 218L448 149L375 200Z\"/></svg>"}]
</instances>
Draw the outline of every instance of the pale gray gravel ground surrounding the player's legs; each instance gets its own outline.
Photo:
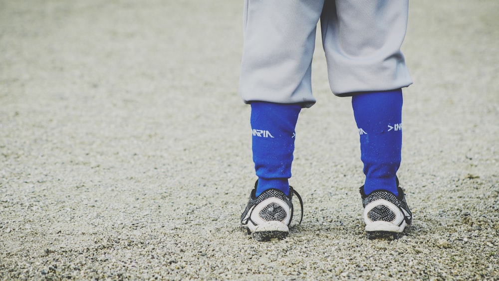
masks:
<instances>
[{"instance_id":1,"label":"pale gray gravel ground surrounding the player's legs","mask_svg":"<svg viewBox=\"0 0 499 281\"><path fill-rule=\"evenodd\" d=\"M267 243L239 231L242 5L0 0L0 279L499 280L499 2L411 2L395 241L365 238L357 128L318 45L303 223Z\"/></svg>"}]
</instances>

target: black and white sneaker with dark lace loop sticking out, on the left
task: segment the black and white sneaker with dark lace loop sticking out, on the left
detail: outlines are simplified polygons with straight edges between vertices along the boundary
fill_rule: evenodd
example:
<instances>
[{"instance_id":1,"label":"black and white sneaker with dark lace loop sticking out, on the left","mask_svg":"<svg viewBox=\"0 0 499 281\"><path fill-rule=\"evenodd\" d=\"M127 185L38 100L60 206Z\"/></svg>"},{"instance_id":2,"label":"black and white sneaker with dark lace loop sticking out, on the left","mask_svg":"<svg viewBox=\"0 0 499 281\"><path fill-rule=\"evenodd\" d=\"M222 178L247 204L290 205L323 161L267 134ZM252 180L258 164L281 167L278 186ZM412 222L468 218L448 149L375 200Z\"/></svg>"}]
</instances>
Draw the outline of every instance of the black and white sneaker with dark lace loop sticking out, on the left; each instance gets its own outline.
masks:
<instances>
[{"instance_id":1,"label":"black and white sneaker with dark lace loop sticking out, on the left","mask_svg":"<svg viewBox=\"0 0 499 281\"><path fill-rule=\"evenodd\" d=\"M293 193L296 194L301 206L301 218L303 219L303 202L300 195L289 187L289 195L286 196L277 189L268 189L258 197L256 193L256 181L250 194L250 201L241 216L241 228L251 234L257 241L268 241L272 239L283 239L289 233L289 226L293 219Z\"/></svg>"}]
</instances>

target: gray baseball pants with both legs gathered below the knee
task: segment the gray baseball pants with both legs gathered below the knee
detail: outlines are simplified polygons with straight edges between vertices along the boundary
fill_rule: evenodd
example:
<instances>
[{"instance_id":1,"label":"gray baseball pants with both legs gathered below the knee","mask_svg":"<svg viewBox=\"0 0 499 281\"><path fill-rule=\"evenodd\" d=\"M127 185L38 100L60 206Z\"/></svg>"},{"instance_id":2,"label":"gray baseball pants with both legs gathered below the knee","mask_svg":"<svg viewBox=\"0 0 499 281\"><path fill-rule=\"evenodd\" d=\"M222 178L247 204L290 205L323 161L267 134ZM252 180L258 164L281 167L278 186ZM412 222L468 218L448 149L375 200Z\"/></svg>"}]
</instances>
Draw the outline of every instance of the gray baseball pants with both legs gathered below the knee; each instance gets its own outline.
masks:
<instances>
[{"instance_id":1,"label":"gray baseball pants with both legs gathered below the knee","mask_svg":"<svg viewBox=\"0 0 499 281\"><path fill-rule=\"evenodd\" d=\"M335 95L409 86L400 51L408 6L408 0L245 0L243 100L315 103L311 63L319 19Z\"/></svg>"}]
</instances>

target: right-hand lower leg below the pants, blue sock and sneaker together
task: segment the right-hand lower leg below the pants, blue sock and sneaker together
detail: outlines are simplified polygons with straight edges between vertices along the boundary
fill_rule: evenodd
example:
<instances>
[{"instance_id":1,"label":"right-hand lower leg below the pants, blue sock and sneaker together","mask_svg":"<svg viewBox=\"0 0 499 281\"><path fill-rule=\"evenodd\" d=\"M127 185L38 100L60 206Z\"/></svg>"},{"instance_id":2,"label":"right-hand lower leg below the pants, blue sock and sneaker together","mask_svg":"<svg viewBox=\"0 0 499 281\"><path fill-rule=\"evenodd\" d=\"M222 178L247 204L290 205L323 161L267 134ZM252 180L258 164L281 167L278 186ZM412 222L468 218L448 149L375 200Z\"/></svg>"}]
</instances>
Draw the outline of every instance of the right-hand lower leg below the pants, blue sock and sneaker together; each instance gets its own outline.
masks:
<instances>
[{"instance_id":1,"label":"right-hand lower leg below the pants, blue sock and sneaker together","mask_svg":"<svg viewBox=\"0 0 499 281\"><path fill-rule=\"evenodd\" d=\"M397 179L402 148L402 90L355 94L352 107L366 175L360 194L367 235L393 236L412 221Z\"/></svg>"}]
</instances>

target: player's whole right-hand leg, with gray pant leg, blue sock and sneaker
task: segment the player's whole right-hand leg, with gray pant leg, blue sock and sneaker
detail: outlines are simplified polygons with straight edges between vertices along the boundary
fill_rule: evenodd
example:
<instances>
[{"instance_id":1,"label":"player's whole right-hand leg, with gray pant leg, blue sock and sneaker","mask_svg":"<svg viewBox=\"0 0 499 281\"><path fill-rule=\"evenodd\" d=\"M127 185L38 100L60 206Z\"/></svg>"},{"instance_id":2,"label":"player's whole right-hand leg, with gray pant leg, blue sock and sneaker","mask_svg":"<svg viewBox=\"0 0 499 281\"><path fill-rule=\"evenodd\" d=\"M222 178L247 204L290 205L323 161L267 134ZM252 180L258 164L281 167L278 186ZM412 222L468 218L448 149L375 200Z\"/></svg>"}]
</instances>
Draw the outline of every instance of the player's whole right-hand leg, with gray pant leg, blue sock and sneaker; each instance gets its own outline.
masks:
<instances>
[{"instance_id":1,"label":"player's whole right-hand leg, with gray pant leg, blue sock and sneaker","mask_svg":"<svg viewBox=\"0 0 499 281\"><path fill-rule=\"evenodd\" d=\"M402 144L400 88L412 83L400 51L407 15L408 0L338 0L326 1L321 16L331 90L353 96L361 133L368 236L402 232L412 220L396 178Z\"/></svg>"}]
</instances>

